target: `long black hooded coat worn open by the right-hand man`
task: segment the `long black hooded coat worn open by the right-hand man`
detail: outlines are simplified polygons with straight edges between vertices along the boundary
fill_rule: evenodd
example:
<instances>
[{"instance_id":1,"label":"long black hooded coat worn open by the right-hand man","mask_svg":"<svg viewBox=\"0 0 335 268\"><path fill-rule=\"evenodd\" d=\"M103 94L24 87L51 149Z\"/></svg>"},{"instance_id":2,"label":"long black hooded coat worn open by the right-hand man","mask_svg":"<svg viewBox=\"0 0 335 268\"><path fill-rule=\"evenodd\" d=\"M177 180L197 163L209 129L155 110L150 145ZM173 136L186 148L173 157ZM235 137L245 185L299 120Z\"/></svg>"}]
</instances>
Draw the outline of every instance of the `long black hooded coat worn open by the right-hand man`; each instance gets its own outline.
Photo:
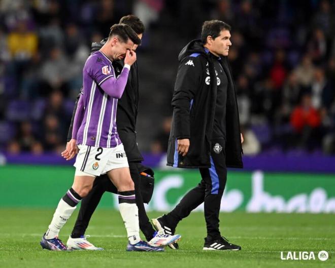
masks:
<instances>
[{"instance_id":1,"label":"long black hooded coat worn open by the right-hand man","mask_svg":"<svg viewBox=\"0 0 335 268\"><path fill-rule=\"evenodd\" d=\"M213 57L200 40L193 40L179 54L179 67L172 98L173 119L169 138L168 166L210 168L217 84ZM227 57L221 65L228 79L226 103L226 166L242 168L242 144L235 85ZM209 74L208 74L209 73ZM210 81L210 82L209 82ZM185 157L178 155L177 139L190 139Z\"/></svg>"}]
</instances>

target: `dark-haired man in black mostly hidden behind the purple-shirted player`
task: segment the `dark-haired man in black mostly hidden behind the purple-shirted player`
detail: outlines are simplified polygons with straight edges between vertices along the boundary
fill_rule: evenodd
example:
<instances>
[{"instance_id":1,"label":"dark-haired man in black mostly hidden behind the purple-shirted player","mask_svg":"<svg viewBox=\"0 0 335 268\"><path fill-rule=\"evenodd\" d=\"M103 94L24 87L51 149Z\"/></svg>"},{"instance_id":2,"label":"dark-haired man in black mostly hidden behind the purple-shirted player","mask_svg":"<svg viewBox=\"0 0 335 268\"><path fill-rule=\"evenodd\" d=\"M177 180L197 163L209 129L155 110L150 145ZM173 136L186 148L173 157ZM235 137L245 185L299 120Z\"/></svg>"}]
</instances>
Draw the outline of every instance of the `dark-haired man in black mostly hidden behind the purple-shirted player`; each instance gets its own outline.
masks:
<instances>
[{"instance_id":1,"label":"dark-haired man in black mostly hidden behind the purple-shirted player","mask_svg":"<svg viewBox=\"0 0 335 268\"><path fill-rule=\"evenodd\" d=\"M133 15L124 16L121 18L120 23L129 25L139 35L140 39L142 39L142 35L144 33L144 25L138 17ZM93 43L91 53L101 49L106 41L107 39L104 39L100 43ZM136 50L136 48L137 45L133 48L133 50ZM112 64L116 72L115 74L116 76L118 76L123 68L124 63L123 61L113 61ZM72 159L77 152L76 143L75 141L71 140L72 123L77 107L77 102L75 110L73 112L73 118L68 135L68 143L66 144L66 150L62 152L62 156L66 160ZM117 130L123 143L124 150L126 152L131 178L135 183L136 204L139 209L140 229L151 246L166 246L173 241L178 240L180 236L166 236L165 234L162 234L162 232L157 233L149 222L149 218L144 208L144 201L140 183L140 173L145 172L148 175L153 176L153 171L149 168L144 167L141 164L141 162L143 161L143 157L137 146L136 119L138 113L138 103L139 77L137 62L135 62L130 68L128 82L125 87L124 93L121 99L118 100L116 113ZM73 249L102 250L102 248L97 248L89 241L87 241L84 234L91 219L91 216L105 192L116 193L117 189L107 175L101 175L99 177L96 177L91 192L81 202L81 208L78 214L77 221L75 223L72 234L70 235L68 242L66 243L66 246Z\"/></svg>"}]
</instances>

